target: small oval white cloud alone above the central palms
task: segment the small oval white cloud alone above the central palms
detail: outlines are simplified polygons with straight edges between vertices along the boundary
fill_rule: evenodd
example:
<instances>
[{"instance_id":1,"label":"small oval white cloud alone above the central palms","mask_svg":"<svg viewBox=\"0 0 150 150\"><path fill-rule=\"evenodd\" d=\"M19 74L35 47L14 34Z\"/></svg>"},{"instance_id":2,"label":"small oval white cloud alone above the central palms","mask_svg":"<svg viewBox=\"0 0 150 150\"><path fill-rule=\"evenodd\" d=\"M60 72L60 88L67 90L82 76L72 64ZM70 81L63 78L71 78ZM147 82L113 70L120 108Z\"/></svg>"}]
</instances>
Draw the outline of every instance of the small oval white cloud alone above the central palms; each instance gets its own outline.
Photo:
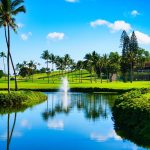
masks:
<instances>
[{"instance_id":1,"label":"small oval white cloud alone above the central palms","mask_svg":"<svg viewBox=\"0 0 150 150\"><path fill-rule=\"evenodd\" d=\"M63 39L64 39L64 36L65 36L64 33L53 32L53 33L49 33L49 34L47 35L47 39L63 40Z\"/></svg>"}]
</instances>

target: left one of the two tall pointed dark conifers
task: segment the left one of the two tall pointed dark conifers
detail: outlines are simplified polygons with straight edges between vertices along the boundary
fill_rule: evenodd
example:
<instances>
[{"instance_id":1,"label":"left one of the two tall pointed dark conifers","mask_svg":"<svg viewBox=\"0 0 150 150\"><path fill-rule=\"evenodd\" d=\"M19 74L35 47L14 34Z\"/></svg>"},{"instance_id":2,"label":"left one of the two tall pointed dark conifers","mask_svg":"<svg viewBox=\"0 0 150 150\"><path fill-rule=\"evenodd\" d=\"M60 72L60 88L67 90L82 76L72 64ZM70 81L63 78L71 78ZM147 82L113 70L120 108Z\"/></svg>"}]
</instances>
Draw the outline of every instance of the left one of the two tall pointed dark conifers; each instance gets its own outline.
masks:
<instances>
[{"instance_id":1,"label":"left one of the two tall pointed dark conifers","mask_svg":"<svg viewBox=\"0 0 150 150\"><path fill-rule=\"evenodd\" d=\"M123 76L123 81L126 82L127 81L126 76L129 70L128 52L130 48L130 38L125 30L122 32L120 42L121 42L120 47L122 48L121 72Z\"/></svg>"}]
</instances>

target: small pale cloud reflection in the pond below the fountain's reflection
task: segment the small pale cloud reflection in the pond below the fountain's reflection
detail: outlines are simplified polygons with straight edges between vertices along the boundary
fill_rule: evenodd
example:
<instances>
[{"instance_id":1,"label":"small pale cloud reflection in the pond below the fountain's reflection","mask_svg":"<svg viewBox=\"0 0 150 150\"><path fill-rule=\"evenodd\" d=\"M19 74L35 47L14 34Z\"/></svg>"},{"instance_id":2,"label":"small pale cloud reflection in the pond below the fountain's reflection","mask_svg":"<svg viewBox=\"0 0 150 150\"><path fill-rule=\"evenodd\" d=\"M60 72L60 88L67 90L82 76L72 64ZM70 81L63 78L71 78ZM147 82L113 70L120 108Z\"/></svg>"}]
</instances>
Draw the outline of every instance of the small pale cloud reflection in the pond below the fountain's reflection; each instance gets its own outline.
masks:
<instances>
[{"instance_id":1,"label":"small pale cloud reflection in the pond below the fountain's reflection","mask_svg":"<svg viewBox=\"0 0 150 150\"><path fill-rule=\"evenodd\" d=\"M64 122L62 120L49 121L47 126L49 129L63 130Z\"/></svg>"}]
</instances>

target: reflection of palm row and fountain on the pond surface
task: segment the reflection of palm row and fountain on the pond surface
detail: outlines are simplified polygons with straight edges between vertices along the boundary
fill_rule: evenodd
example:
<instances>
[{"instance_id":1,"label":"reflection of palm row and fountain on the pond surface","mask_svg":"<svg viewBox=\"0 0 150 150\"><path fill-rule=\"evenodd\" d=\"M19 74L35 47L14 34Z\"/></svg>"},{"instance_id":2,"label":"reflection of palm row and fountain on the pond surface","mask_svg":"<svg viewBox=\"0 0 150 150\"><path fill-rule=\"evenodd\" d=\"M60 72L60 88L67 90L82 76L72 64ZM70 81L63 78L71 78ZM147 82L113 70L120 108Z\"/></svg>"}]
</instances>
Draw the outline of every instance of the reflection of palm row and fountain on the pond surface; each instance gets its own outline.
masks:
<instances>
[{"instance_id":1,"label":"reflection of palm row and fountain on the pond surface","mask_svg":"<svg viewBox=\"0 0 150 150\"><path fill-rule=\"evenodd\" d=\"M71 109L77 108L78 111L83 111L85 118L95 121L96 119L107 119L108 110L112 107L113 97L104 94L84 94L84 93L59 93L58 97L54 98L52 94L49 97L49 106L42 113L45 121L55 117L59 113L69 114Z\"/></svg>"}]
</instances>

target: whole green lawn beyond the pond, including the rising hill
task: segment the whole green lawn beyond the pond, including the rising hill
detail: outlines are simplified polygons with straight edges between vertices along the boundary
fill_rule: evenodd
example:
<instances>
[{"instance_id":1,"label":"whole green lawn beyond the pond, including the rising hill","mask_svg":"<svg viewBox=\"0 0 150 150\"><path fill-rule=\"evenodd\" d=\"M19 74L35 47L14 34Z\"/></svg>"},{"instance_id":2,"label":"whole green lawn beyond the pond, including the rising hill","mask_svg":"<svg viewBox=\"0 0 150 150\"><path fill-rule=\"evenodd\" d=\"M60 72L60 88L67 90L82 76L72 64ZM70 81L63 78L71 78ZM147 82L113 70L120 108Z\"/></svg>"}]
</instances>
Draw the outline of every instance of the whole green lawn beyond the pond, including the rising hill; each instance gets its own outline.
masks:
<instances>
[{"instance_id":1,"label":"whole green lawn beyond the pond, including the rising hill","mask_svg":"<svg viewBox=\"0 0 150 150\"><path fill-rule=\"evenodd\" d=\"M134 81L133 83L123 83L121 81L113 81L107 83L106 80L103 80L103 83L100 82L100 79L97 79L97 82L90 81L90 74L87 71L83 71L82 83L79 82L79 71L65 74L69 79L69 87L71 89L88 89L88 88L98 88L98 89L109 89L109 90L130 90L130 89L140 89L140 88L150 88L150 82L148 81ZM18 77L18 87L19 89L30 89L30 90L56 90L61 86L61 77L59 72L54 72L50 74L50 83L48 83L47 74L35 74L30 79ZM53 83L54 82L54 83ZM11 81L11 88L14 89L14 81ZM4 78L0 79L0 89L7 89L7 80Z\"/></svg>"}]
</instances>

